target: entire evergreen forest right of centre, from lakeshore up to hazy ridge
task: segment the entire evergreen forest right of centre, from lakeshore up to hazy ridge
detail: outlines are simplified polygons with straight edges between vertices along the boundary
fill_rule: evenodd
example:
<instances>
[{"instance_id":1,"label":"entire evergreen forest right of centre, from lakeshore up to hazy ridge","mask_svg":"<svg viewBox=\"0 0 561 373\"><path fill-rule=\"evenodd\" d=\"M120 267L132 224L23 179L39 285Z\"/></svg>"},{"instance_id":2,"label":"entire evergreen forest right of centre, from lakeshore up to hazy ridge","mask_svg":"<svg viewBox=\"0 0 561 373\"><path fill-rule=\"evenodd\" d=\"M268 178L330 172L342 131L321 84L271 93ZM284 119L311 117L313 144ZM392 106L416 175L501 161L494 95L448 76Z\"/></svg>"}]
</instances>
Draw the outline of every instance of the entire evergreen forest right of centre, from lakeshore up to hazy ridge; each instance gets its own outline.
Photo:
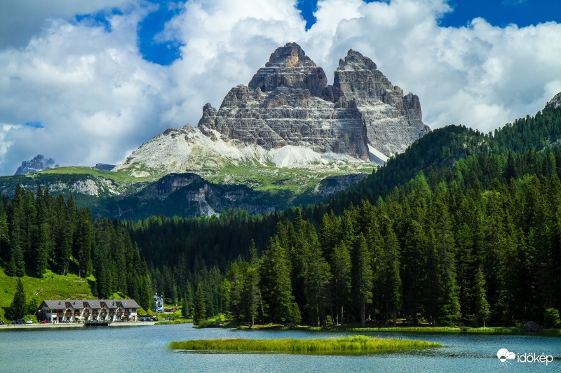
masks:
<instances>
[{"instance_id":1,"label":"entire evergreen forest right of centre, from lakeshore up to hazy ridge","mask_svg":"<svg viewBox=\"0 0 561 373\"><path fill-rule=\"evenodd\" d=\"M323 204L122 224L158 292L209 315L543 323L561 308L560 138L559 109L448 126Z\"/></svg>"}]
</instances>

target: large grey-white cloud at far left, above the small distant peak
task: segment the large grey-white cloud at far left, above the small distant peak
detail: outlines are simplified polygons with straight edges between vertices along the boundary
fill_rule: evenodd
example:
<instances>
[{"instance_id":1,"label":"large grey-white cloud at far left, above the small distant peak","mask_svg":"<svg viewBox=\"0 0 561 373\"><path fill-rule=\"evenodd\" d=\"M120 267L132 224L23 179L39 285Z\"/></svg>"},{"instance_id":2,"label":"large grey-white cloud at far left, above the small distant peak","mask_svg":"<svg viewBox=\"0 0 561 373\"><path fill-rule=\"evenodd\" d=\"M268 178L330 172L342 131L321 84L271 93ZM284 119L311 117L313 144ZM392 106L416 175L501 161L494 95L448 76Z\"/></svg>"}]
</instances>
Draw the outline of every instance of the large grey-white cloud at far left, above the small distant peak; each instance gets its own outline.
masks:
<instances>
[{"instance_id":1,"label":"large grey-white cloud at far left, above the small distant peak","mask_svg":"<svg viewBox=\"0 0 561 373\"><path fill-rule=\"evenodd\" d=\"M137 50L143 15L111 15L111 31L53 20L26 48L0 52L0 120L20 125L6 135L4 174L36 153L60 164L116 162L121 147L151 136L167 76ZM41 126L21 126L32 121Z\"/></svg>"}]
</instances>

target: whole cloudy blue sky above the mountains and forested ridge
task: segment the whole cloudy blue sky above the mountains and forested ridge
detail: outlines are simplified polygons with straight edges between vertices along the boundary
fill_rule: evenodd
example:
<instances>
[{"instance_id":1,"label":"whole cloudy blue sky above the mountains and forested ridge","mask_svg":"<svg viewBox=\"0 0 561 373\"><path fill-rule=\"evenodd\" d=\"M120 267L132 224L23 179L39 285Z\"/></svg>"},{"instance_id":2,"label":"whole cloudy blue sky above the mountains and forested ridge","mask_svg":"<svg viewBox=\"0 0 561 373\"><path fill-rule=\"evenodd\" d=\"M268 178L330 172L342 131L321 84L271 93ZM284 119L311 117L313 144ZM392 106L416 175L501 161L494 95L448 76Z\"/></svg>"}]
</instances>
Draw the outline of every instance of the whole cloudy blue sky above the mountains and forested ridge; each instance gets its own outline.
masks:
<instances>
[{"instance_id":1,"label":"whole cloudy blue sky above the mountains and forested ridge","mask_svg":"<svg viewBox=\"0 0 561 373\"><path fill-rule=\"evenodd\" d=\"M331 82L350 48L424 122L487 132L561 92L557 0L3 0L0 174L41 153L115 164L169 127L196 125L297 42Z\"/></svg>"}]
</instances>

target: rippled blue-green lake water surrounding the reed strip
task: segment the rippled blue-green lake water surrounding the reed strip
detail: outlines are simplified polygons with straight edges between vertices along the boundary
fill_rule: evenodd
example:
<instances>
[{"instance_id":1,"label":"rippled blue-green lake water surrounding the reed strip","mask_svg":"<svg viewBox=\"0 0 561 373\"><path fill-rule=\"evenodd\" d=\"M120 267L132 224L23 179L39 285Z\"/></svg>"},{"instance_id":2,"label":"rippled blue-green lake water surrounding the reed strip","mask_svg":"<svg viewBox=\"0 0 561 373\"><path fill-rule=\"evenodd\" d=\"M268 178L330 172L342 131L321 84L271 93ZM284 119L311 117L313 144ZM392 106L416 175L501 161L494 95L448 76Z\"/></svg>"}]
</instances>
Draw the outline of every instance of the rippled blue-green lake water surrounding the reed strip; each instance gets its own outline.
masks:
<instances>
[{"instance_id":1,"label":"rippled blue-green lake water surrounding the reed strip","mask_svg":"<svg viewBox=\"0 0 561 373\"><path fill-rule=\"evenodd\" d=\"M370 356L184 353L168 342L211 338L330 338L346 335L423 339L441 349ZM496 358L499 349L545 353L553 363ZM0 332L0 372L561 372L561 338L529 335L330 333L194 329L191 324Z\"/></svg>"}]
</instances>

